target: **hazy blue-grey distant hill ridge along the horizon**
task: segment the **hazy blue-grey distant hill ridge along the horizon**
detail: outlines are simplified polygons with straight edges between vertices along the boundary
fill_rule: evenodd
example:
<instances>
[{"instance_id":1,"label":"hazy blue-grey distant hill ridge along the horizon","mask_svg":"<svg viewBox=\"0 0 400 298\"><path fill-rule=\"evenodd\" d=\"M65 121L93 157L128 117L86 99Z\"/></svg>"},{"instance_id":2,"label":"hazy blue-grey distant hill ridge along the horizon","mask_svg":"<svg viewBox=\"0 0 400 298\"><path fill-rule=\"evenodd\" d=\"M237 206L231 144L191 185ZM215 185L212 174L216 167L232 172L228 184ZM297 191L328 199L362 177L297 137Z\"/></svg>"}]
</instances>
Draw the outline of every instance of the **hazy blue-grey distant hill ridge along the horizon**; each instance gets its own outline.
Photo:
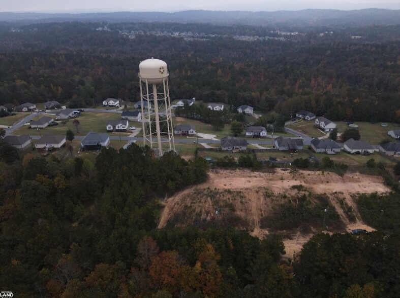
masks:
<instances>
[{"instance_id":1,"label":"hazy blue-grey distant hill ridge along the horizon","mask_svg":"<svg viewBox=\"0 0 400 298\"><path fill-rule=\"evenodd\" d=\"M249 12L205 11L112 12L112 13L13 13L1 12L0 21L43 23L64 21L177 22L220 25L393 25L400 24L400 10L306 9L300 11Z\"/></svg>"}]
</instances>

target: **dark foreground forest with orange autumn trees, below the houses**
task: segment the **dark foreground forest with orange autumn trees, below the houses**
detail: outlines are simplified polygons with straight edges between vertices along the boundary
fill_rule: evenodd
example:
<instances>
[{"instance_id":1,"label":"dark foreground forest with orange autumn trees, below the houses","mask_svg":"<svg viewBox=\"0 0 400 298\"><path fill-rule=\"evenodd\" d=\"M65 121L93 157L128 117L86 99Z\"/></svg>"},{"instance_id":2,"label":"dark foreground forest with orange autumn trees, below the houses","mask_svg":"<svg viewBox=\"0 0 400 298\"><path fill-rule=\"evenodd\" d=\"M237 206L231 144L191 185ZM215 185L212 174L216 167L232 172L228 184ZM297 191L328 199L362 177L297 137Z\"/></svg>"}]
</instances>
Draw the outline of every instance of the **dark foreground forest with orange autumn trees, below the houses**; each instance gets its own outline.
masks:
<instances>
[{"instance_id":1,"label":"dark foreground forest with orange autumn trees, below the houses","mask_svg":"<svg viewBox=\"0 0 400 298\"><path fill-rule=\"evenodd\" d=\"M20 160L2 140L0 152L8 152L0 164L0 287L17 297L350 298L400 292L398 224L370 216L371 225L386 225L386 234L318 234L294 259L282 258L279 234L260 240L214 220L157 229L162 198L206 179L201 158L155 159L148 147L133 144L119 152L103 149L96 164L81 158L61 164L55 155ZM366 214L372 215L367 210L376 209L378 199L380 208L392 204L364 196Z\"/></svg>"}]
</instances>

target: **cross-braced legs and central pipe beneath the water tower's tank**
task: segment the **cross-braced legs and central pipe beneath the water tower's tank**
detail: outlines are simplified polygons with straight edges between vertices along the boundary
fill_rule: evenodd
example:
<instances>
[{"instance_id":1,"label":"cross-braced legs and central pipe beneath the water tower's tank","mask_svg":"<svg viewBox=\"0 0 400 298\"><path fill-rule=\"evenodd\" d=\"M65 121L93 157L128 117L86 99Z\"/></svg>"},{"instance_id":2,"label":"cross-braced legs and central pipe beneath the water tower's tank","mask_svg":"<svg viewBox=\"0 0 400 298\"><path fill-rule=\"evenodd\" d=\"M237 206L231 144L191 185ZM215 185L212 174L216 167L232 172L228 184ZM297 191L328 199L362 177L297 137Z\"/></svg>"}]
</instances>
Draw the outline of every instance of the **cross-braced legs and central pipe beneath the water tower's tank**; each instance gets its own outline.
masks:
<instances>
[{"instance_id":1,"label":"cross-braced legs and central pipe beneath the water tower's tank","mask_svg":"<svg viewBox=\"0 0 400 298\"><path fill-rule=\"evenodd\" d=\"M175 151L168 79L161 80L156 84L153 80L140 79L143 143L159 156Z\"/></svg>"}]
</instances>

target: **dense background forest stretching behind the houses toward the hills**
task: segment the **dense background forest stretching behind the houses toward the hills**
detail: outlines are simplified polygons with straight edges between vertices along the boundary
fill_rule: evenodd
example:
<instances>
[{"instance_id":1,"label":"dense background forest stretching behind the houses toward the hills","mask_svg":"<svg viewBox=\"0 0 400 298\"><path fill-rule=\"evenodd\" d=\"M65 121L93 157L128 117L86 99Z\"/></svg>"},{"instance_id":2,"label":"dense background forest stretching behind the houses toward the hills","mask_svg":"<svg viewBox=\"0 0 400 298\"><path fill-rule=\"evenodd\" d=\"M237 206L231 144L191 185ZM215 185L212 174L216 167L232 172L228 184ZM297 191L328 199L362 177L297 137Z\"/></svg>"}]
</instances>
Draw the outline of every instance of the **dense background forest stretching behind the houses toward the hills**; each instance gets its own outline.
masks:
<instances>
[{"instance_id":1,"label":"dense background forest stretching behind the houses toward the hills","mask_svg":"<svg viewBox=\"0 0 400 298\"><path fill-rule=\"evenodd\" d=\"M310 110L332 121L399 121L398 26L338 29L318 38L314 28L286 41L236 41L229 34L264 34L265 28L192 24L193 31L221 34L209 40L136 35L117 27L184 30L183 24L49 23L0 34L0 104L56 100L70 107L98 105L104 98L139 99L138 65L167 62L171 99L196 97L236 108L254 106L289 118ZM189 26L189 25L188 25ZM325 28L327 29L327 28ZM350 39L369 32L368 41ZM260 35L262 36L262 35ZM376 40L374 41L374 39ZM397 111L397 113L396 113Z\"/></svg>"}]
</instances>

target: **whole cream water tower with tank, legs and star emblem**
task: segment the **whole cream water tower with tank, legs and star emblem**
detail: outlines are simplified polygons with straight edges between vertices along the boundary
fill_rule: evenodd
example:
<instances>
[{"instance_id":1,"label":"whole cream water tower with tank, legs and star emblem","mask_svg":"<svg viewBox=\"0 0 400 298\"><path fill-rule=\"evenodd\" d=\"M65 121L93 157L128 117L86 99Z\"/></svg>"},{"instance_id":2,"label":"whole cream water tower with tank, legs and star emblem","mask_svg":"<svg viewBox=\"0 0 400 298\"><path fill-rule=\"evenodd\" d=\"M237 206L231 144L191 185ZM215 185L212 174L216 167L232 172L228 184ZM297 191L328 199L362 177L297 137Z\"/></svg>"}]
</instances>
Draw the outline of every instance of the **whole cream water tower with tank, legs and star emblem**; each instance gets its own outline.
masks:
<instances>
[{"instance_id":1,"label":"whole cream water tower with tank, legs and star emblem","mask_svg":"<svg viewBox=\"0 0 400 298\"><path fill-rule=\"evenodd\" d=\"M139 78L143 143L159 156L175 151L167 63L154 58L140 62Z\"/></svg>"}]
</instances>

